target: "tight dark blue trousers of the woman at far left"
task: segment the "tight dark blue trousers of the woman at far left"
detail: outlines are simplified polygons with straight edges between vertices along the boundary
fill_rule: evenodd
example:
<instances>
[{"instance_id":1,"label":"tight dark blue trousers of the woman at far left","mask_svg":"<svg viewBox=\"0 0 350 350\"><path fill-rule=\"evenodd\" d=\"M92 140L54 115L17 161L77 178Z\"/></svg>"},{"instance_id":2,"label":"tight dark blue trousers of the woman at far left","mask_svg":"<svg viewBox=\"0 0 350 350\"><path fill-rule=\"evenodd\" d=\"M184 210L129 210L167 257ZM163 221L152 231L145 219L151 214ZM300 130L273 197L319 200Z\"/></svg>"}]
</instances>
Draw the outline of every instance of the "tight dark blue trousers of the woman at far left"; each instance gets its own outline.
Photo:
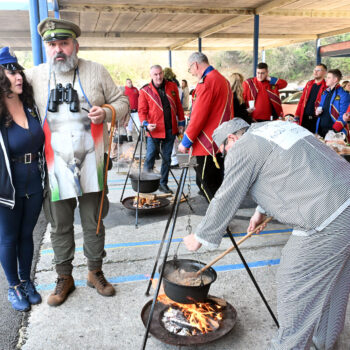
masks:
<instances>
[{"instance_id":1,"label":"tight dark blue trousers of the woman at far left","mask_svg":"<svg viewBox=\"0 0 350 350\"><path fill-rule=\"evenodd\" d=\"M17 197L13 209L0 206L0 262L10 286L30 279L33 230L43 201L42 191Z\"/></svg>"}]
</instances>

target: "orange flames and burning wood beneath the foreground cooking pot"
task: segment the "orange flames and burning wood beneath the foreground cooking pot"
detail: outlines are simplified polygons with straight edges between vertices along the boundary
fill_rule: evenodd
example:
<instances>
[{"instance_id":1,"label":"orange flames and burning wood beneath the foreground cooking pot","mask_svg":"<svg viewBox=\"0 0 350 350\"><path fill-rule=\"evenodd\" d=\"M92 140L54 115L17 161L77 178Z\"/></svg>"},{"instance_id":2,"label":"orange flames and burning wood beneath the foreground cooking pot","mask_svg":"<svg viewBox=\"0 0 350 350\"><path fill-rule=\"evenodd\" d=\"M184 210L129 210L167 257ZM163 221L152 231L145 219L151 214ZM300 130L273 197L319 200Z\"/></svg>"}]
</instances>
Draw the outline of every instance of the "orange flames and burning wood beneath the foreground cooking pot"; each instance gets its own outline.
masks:
<instances>
[{"instance_id":1,"label":"orange flames and burning wood beneath the foreground cooking pot","mask_svg":"<svg viewBox=\"0 0 350 350\"><path fill-rule=\"evenodd\" d=\"M170 305L168 311L173 309L181 310L190 326L195 329L192 335L209 333L220 326L222 307L215 302L179 304L169 299L165 294L160 295L157 300L164 305Z\"/></svg>"}]
</instances>

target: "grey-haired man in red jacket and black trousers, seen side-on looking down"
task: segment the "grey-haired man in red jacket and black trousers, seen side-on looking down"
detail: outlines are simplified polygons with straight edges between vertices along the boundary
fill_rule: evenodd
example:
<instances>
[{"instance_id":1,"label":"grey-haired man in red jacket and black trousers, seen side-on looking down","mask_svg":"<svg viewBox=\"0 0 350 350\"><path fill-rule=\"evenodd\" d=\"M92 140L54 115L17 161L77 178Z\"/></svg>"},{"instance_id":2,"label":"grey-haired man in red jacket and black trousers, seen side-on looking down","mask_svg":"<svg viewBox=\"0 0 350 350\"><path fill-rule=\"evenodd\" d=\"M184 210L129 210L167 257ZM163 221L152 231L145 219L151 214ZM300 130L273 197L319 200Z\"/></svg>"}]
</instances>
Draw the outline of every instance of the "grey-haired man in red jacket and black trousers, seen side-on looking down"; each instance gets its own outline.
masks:
<instances>
[{"instance_id":1,"label":"grey-haired man in red jacket and black trousers, seen side-on looking down","mask_svg":"<svg viewBox=\"0 0 350 350\"><path fill-rule=\"evenodd\" d=\"M221 123L233 118L232 90L228 80L209 65L207 56L201 52L189 57L188 72L199 81L192 99L191 119L178 150L186 153L192 147L198 164L197 185L200 193L211 199L224 174L224 161L217 156L219 149L212 135Z\"/></svg>"}]
</instances>

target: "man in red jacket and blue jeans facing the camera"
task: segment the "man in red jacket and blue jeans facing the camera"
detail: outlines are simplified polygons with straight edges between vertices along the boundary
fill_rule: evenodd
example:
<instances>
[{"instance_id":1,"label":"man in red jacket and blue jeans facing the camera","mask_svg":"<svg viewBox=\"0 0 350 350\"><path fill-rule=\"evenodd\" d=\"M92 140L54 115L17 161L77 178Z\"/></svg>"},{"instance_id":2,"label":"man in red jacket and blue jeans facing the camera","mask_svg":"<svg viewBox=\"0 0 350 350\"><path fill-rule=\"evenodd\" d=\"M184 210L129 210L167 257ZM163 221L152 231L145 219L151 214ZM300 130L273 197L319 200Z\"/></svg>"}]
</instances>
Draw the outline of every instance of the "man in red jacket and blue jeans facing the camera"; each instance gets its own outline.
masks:
<instances>
[{"instance_id":1,"label":"man in red jacket and blue jeans facing the camera","mask_svg":"<svg viewBox=\"0 0 350 350\"><path fill-rule=\"evenodd\" d=\"M144 170L152 171L161 146L163 160L159 190L172 193L168 187L170 157L176 134L183 133L184 111L177 85L164 79L162 67L152 66L150 75L152 81L140 89L138 110L142 126L149 131Z\"/></svg>"}]
</instances>

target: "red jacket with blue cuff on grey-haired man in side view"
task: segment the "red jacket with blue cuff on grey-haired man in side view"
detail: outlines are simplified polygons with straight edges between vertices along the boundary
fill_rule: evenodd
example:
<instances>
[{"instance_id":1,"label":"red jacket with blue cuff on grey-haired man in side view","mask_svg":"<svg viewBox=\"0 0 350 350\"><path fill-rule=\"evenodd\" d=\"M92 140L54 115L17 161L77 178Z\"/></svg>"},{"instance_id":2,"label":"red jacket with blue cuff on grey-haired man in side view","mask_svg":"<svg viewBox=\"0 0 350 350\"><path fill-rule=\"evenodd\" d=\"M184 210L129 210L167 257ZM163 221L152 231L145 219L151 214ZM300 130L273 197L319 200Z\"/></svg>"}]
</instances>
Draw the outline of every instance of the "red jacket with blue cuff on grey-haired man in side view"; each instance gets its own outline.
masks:
<instances>
[{"instance_id":1,"label":"red jacket with blue cuff on grey-haired man in side view","mask_svg":"<svg viewBox=\"0 0 350 350\"><path fill-rule=\"evenodd\" d=\"M217 70L211 70L196 86L191 119L182 144L192 146L192 155L214 155L213 132L233 118L233 97L230 83Z\"/></svg>"}]
</instances>

